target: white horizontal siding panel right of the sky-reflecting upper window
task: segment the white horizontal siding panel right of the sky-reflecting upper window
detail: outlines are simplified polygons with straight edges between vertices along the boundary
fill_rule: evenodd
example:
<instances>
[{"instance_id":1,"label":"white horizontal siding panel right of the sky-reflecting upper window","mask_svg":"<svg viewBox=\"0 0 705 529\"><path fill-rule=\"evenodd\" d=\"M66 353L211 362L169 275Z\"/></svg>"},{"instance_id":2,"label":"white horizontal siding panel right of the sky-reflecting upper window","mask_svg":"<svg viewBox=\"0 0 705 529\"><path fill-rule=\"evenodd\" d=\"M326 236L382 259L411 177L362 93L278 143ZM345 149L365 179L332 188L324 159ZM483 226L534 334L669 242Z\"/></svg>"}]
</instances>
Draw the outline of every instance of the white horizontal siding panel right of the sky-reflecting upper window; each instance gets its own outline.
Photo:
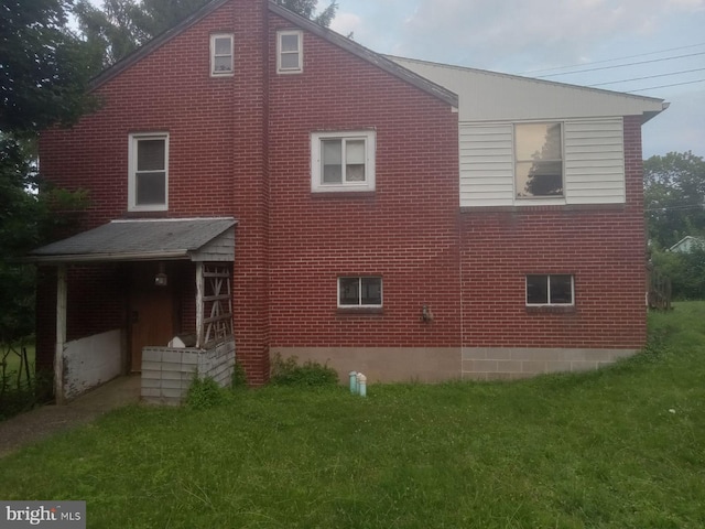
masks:
<instances>
[{"instance_id":1,"label":"white horizontal siding panel right of the sky-reflecting upper window","mask_svg":"<svg viewBox=\"0 0 705 529\"><path fill-rule=\"evenodd\" d=\"M621 118L566 121L564 134L567 203L625 203Z\"/></svg>"}]
</instances>

